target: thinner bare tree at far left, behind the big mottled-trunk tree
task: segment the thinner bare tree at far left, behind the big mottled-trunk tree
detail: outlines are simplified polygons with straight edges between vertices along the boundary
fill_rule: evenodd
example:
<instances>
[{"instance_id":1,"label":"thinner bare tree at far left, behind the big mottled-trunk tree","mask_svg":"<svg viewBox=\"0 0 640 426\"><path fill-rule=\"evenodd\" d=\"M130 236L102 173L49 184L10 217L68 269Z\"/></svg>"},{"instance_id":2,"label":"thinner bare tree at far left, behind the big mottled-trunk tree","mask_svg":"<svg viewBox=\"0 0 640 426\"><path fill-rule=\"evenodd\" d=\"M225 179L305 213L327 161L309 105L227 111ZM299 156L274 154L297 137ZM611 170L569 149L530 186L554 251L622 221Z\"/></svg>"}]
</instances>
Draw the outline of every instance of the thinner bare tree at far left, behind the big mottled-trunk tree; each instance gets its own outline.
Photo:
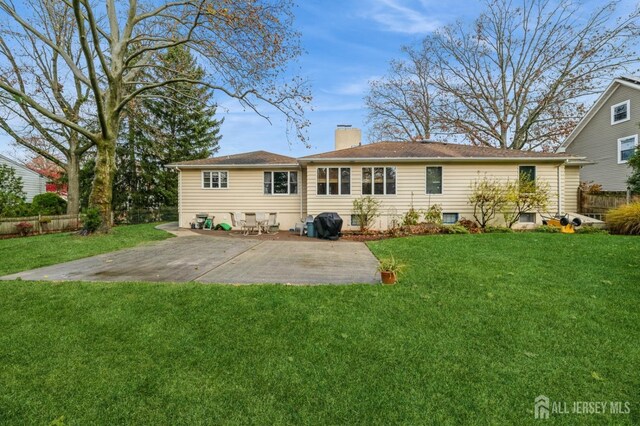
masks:
<instances>
[{"instance_id":1,"label":"thinner bare tree at far left, behind the big mottled-trunk tree","mask_svg":"<svg viewBox=\"0 0 640 426\"><path fill-rule=\"evenodd\" d=\"M80 208L79 172L82 155L91 140L42 114L24 101L23 95L51 113L79 124L89 99L89 89L73 74L68 75L63 54L76 64L82 52L74 41L72 11L62 3L30 0L31 23L58 49L43 48L31 32L16 32L8 24L0 27L0 85L12 86L19 93L0 91L0 128L13 140L64 169L68 181L67 213ZM63 54L61 53L63 52ZM84 108L84 109L83 109Z\"/></svg>"}]
</instances>

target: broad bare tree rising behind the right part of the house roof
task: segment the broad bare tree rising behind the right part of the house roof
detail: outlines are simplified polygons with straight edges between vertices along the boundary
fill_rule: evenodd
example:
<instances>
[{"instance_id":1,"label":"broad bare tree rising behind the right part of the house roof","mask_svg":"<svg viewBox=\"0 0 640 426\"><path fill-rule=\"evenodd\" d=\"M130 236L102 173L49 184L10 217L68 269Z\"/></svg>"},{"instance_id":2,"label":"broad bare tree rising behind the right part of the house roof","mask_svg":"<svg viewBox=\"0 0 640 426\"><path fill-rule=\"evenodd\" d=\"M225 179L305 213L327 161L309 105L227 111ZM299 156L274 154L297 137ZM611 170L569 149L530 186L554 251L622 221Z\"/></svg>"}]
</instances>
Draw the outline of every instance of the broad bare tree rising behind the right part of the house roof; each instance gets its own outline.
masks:
<instances>
[{"instance_id":1,"label":"broad bare tree rising behind the right part of the house roof","mask_svg":"<svg viewBox=\"0 0 640 426\"><path fill-rule=\"evenodd\" d=\"M431 121L475 145L557 146L583 116L586 96L637 68L640 8L616 19L616 6L585 16L569 0L490 0L473 25L436 31L419 60L441 97Z\"/></svg>"}]
</instances>

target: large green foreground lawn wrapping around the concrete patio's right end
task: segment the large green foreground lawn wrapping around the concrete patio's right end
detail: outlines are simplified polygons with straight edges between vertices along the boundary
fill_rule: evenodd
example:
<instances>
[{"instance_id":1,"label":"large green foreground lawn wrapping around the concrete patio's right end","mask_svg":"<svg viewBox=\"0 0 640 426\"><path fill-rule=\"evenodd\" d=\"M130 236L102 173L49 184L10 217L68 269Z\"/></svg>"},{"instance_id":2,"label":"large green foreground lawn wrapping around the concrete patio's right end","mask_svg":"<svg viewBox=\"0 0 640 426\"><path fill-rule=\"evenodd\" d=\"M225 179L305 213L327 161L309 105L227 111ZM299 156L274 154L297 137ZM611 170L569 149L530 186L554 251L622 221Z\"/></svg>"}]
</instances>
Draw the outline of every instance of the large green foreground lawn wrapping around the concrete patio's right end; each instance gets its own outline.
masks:
<instances>
[{"instance_id":1,"label":"large green foreground lawn wrapping around the concrete patio's right end","mask_svg":"<svg viewBox=\"0 0 640 426\"><path fill-rule=\"evenodd\" d=\"M0 283L0 423L640 423L640 238L370 246L399 285Z\"/></svg>"}]
</instances>

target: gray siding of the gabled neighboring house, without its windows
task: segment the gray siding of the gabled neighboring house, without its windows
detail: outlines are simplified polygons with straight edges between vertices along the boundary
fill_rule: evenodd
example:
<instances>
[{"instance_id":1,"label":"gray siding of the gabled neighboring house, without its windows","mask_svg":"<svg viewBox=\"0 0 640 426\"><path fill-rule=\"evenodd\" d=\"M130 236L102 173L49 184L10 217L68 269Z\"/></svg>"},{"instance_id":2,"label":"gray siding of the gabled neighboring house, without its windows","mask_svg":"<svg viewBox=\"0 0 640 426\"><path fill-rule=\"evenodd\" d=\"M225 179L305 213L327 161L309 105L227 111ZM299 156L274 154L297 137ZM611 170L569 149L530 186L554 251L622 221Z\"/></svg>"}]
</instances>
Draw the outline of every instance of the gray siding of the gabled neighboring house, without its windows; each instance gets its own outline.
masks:
<instances>
[{"instance_id":1,"label":"gray siding of the gabled neighboring house, without its windows","mask_svg":"<svg viewBox=\"0 0 640 426\"><path fill-rule=\"evenodd\" d=\"M630 101L630 119L611 124L611 106ZM619 86L602 108L589 120L584 129L567 147L566 152L584 156L595 164L580 171L583 182L602 185L606 191L625 191L631 169L626 163L618 164L618 139L640 134L640 90Z\"/></svg>"}]
</instances>

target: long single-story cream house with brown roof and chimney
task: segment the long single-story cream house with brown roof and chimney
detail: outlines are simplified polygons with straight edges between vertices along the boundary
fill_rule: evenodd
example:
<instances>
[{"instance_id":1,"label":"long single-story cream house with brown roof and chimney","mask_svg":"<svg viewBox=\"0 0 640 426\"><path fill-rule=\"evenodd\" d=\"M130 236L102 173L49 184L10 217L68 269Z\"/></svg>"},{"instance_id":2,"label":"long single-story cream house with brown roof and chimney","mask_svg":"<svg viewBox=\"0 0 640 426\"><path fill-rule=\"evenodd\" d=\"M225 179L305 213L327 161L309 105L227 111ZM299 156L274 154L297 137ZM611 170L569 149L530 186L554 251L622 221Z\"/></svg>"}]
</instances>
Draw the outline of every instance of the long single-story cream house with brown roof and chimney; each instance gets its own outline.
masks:
<instances>
[{"instance_id":1,"label":"long single-story cream house with brown roof and chimney","mask_svg":"<svg viewBox=\"0 0 640 426\"><path fill-rule=\"evenodd\" d=\"M336 149L302 158L265 151L168 165L180 172L180 226L203 212L231 223L231 212L277 212L281 228L301 218L337 212L344 229L356 229L353 200L372 195L381 201L375 227L384 229L412 206L439 204L443 221L473 218L471 185L487 176L517 180L521 173L549 184L549 212L576 212L580 158L567 154L502 150L442 142L377 142L362 145L360 131L336 130ZM540 224L537 212L521 226Z\"/></svg>"}]
</instances>

